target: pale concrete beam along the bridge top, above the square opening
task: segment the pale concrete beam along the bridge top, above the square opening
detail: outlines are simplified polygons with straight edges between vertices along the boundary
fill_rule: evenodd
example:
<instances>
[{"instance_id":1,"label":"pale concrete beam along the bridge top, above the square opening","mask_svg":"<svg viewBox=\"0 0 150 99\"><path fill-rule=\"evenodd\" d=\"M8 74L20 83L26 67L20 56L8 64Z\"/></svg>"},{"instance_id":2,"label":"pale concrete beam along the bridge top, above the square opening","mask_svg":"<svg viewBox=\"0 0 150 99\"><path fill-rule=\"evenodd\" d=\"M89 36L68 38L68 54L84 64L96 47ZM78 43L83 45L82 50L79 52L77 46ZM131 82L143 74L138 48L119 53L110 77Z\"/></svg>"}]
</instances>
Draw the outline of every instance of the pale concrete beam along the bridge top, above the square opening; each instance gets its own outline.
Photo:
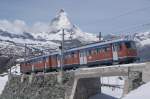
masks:
<instances>
[{"instance_id":1,"label":"pale concrete beam along the bridge top, above the square opening","mask_svg":"<svg viewBox=\"0 0 150 99\"><path fill-rule=\"evenodd\" d=\"M115 65L106 67L81 68L75 72L76 78L101 77L101 76L128 76L129 71L143 71L145 63Z\"/></svg>"}]
</instances>

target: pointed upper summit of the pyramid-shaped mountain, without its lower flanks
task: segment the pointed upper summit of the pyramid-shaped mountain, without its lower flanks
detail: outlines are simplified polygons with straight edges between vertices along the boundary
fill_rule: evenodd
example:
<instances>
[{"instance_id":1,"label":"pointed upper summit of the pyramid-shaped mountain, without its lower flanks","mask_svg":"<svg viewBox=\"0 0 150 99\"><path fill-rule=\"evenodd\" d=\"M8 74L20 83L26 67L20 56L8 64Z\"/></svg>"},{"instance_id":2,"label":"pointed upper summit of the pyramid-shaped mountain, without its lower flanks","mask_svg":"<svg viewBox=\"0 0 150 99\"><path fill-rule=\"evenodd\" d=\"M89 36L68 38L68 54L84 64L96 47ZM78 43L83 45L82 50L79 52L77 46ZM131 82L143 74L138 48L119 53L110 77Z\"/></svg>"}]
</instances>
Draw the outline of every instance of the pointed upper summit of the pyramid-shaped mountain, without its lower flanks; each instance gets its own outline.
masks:
<instances>
[{"instance_id":1,"label":"pointed upper summit of the pyramid-shaped mountain, without its lower flanks","mask_svg":"<svg viewBox=\"0 0 150 99\"><path fill-rule=\"evenodd\" d=\"M70 29L72 24L64 9L60 9L56 17L51 21L51 28L53 30Z\"/></svg>"}]
</instances>

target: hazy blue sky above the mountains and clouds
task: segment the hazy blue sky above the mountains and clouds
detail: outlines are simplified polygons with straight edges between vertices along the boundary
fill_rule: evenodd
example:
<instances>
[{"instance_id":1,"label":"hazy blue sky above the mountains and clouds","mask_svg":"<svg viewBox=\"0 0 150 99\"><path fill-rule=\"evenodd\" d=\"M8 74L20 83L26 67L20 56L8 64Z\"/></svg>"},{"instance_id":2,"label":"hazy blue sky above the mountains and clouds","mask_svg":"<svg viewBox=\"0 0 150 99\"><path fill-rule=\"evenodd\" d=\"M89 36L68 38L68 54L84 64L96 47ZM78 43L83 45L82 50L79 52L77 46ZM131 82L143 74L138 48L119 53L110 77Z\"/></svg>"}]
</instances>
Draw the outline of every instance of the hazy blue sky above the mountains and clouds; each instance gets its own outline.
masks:
<instances>
[{"instance_id":1,"label":"hazy blue sky above the mountains and clouds","mask_svg":"<svg viewBox=\"0 0 150 99\"><path fill-rule=\"evenodd\" d=\"M150 0L0 0L0 20L48 23L61 8L86 32L150 30Z\"/></svg>"}]
</instances>

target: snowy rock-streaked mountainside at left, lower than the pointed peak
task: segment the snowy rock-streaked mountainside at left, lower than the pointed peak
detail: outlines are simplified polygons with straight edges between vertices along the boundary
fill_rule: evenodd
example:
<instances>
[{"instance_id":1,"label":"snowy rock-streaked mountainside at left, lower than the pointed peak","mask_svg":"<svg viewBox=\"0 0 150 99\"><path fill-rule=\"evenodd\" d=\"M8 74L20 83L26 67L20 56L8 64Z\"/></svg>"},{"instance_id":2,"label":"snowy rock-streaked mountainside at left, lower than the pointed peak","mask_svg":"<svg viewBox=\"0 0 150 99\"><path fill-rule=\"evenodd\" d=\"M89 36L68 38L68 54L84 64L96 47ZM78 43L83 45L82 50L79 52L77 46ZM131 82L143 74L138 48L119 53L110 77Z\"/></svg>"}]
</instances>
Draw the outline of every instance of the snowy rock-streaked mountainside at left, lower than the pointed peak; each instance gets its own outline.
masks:
<instances>
[{"instance_id":1,"label":"snowy rock-streaked mountainside at left, lower than the pointed peak","mask_svg":"<svg viewBox=\"0 0 150 99\"><path fill-rule=\"evenodd\" d=\"M34 49L57 49L58 44L46 41L38 40L30 33L13 34L7 31L0 30L0 54L2 55L19 55L22 56L25 51L25 44L27 44L30 51Z\"/></svg>"}]
</instances>

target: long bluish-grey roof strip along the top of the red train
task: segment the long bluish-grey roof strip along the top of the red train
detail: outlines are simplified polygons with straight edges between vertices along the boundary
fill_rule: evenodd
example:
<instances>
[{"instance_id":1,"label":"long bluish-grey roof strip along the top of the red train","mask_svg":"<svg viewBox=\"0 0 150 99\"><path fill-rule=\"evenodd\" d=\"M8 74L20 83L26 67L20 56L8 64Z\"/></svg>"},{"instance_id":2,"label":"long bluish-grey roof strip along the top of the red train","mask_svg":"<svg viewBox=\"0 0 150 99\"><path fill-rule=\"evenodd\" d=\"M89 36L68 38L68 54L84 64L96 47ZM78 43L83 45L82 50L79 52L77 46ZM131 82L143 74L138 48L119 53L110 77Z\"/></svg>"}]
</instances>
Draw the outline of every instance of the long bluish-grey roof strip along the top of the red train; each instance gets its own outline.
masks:
<instances>
[{"instance_id":1,"label":"long bluish-grey roof strip along the top of the red train","mask_svg":"<svg viewBox=\"0 0 150 99\"><path fill-rule=\"evenodd\" d=\"M90 43L90 44L87 44L87 45L83 45L83 46L67 49L65 52L78 51L78 50L83 50L83 49L87 49L87 48L92 48L92 47L95 47L95 46L102 46L102 45L107 45L107 44L111 44L111 43L126 42L126 41L133 41L133 40L117 39L117 40L112 40L112 41L94 42L94 43ZM28 59L26 61L37 60L37 59L40 59L40 58L43 58L43 57L49 57L49 56L57 55L57 54L59 54L59 52L55 52L55 53L51 53L51 54L48 54L48 55L43 55L43 56L30 58L30 59Z\"/></svg>"}]
</instances>

